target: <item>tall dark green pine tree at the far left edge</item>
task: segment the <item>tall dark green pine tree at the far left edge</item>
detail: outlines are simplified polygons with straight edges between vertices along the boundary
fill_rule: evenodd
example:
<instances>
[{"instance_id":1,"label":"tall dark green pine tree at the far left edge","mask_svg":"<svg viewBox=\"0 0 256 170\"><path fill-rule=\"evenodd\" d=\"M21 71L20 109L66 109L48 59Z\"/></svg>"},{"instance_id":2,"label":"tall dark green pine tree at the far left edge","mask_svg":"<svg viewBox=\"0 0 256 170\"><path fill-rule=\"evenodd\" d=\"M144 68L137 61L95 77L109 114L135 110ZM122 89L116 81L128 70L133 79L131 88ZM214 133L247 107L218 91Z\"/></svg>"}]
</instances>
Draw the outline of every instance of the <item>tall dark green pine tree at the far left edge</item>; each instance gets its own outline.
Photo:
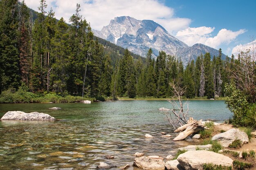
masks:
<instances>
[{"instance_id":1,"label":"tall dark green pine tree at the far left edge","mask_svg":"<svg viewBox=\"0 0 256 170\"><path fill-rule=\"evenodd\" d=\"M18 0L0 1L0 93L18 88Z\"/></svg>"}]
</instances>

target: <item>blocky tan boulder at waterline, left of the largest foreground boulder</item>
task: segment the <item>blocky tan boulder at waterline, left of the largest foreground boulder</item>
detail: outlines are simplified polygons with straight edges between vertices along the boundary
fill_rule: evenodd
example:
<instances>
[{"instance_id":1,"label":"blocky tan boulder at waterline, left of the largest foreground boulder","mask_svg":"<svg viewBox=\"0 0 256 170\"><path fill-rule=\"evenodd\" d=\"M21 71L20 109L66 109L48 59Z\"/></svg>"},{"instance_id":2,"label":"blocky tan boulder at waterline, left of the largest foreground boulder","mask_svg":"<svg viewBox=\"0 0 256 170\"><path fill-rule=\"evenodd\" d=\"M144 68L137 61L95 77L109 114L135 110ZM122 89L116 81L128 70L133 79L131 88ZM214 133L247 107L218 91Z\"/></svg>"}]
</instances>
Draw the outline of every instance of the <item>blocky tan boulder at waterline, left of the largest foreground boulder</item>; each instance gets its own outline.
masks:
<instances>
[{"instance_id":1,"label":"blocky tan boulder at waterline, left of the largest foreground boulder","mask_svg":"<svg viewBox=\"0 0 256 170\"><path fill-rule=\"evenodd\" d=\"M162 157L149 156L135 158L133 166L144 170L164 170L164 160Z\"/></svg>"}]
</instances>

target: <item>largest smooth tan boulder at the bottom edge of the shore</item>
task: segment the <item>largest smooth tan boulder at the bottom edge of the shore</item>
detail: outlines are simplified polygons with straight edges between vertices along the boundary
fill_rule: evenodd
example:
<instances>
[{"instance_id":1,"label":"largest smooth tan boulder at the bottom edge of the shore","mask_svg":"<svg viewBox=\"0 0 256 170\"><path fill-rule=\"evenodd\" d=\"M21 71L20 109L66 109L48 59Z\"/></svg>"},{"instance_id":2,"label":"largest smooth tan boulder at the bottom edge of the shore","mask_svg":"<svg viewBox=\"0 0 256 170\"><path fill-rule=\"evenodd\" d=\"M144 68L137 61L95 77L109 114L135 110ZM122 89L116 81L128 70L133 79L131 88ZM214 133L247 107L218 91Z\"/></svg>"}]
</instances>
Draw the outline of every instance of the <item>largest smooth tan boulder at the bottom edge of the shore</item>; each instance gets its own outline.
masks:
<instances>
[{"instance_id":1,"label":"largest smooth tan boulder at the bottom edge of the shore","mask_svg":"<svg viewBox=\"0 0 256 170\"><path fill-rule=\"evenodd\" d=\"M231 158L207 150L188 151L179 155L177 160L184 170L203 170L204 163L233 166L233 160Z\"/></svg>"}]
</instances>

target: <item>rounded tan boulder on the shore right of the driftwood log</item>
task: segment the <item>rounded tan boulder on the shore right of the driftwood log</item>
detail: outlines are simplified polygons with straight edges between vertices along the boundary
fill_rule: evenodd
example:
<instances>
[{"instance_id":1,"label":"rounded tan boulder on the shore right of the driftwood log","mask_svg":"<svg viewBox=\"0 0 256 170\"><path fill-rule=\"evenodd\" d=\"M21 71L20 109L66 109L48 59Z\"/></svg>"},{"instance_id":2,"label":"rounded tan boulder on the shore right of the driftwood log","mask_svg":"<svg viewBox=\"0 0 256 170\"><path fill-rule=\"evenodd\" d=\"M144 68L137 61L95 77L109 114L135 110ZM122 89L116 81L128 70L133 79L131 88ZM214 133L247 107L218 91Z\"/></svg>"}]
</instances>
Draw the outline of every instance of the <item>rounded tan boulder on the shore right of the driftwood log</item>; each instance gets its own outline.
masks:
<instances>
[{"instance_id":1,"label":"rounded tan boulder on the shore right of the driftwood log","mask_svg":"<svg viewBox=\"0 0 256 170\"><path fill-rule=\"evenodd\" d=\"M219 141L223 147L228 147L229 144L238 139L242 141L242 144L249 142L247 134L238 129L230 129L211 138L211 140Z\"/></svg>"}]
</instances>

